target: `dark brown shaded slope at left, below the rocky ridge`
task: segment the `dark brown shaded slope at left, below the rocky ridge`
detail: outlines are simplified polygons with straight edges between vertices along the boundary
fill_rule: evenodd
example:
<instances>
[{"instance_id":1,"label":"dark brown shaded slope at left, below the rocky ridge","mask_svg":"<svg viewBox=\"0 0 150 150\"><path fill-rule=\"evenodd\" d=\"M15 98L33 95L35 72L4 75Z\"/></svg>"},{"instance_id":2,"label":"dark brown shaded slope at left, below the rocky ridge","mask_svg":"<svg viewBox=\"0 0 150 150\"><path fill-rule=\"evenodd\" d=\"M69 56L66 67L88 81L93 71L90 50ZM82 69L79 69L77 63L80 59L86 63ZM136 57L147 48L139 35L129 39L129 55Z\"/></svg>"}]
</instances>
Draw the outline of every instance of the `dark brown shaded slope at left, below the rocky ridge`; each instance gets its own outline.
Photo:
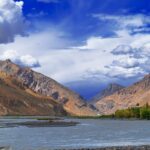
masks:
<instances>
[{"instance_id":1,"label":"dark brown shaded slope at left, below the rocky ridge","mask_svg":"<svg viewBox=\"0 0 150 150\"><path fill-rule=\"evenodd\" d=\"M32 95L16 79L0 72L0 115L66 115L52 98Z\"/></svg>"}]
</instances>

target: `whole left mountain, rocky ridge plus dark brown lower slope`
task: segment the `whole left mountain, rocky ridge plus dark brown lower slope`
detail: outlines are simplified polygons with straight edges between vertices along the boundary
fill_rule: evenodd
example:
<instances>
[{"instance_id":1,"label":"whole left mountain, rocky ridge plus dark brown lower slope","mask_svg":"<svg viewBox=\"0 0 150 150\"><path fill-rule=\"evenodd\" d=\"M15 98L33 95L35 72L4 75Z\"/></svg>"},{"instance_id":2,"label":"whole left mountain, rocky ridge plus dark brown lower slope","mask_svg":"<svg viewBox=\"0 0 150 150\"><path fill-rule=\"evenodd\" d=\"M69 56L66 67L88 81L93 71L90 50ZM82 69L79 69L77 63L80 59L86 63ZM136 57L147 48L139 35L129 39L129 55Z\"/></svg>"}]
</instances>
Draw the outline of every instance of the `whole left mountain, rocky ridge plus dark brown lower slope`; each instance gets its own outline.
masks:
<instances>
[{"instance_id":1,"label":"whole left mountain, rocky ridge plus dark brown lower slope","mask_svg":"<svg viewBox=\"0 0 150 150\"><path fill-rule=\"evenodd\" d=\"M28 67L20 67L10 60L0 61L0 79L1 114L39 115L41 112L41 114L48 115L50 114L48 110L57 114L59 109L71 115L96 114L95 110L75 92L41 73ZM5 104L5 102L9 104ZM22 106L25 104L26 109L25 106ZM29 112L30 110L31 112Z\"/></svg>"}]
</instances>

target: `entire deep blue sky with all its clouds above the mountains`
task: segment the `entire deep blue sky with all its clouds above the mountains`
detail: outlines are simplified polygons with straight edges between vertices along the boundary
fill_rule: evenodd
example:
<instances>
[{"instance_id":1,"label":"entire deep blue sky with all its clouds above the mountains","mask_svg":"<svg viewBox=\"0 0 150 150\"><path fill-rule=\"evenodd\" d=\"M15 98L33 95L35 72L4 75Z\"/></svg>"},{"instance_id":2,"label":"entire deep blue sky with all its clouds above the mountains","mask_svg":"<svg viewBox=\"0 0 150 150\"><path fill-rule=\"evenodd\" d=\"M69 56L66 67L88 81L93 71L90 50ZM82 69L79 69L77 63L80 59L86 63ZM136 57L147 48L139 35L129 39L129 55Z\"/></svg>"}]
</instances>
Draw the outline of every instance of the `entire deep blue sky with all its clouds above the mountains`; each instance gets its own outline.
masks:
<instances>
[{"instance_id":1,"label":"entire deep blue sky with all its clouds above the mountains","mask_svg":"<svg viewBox=\"0 0 150 150\"><path fill-rule=\"evenodd\" d=\"M149 0L0 0L0 59L90 99L150 72Z\"/></svg>"}]
</instances>

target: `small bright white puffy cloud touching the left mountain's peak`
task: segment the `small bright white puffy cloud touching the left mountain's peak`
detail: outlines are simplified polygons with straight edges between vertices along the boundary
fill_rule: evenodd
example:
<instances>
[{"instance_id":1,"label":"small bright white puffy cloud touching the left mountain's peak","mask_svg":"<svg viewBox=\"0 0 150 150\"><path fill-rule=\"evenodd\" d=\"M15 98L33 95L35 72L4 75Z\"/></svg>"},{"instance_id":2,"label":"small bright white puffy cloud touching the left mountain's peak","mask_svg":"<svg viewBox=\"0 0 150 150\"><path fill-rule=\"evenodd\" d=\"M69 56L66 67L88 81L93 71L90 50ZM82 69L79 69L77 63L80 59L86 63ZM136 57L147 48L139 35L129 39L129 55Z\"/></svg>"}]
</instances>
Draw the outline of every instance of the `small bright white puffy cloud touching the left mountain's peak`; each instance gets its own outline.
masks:
<instances>
[{"instance_id":1,"label":"small bright white puffy cloud touching the left mountain's peak","mask_svg":"<svg viewBox=\"0 0 150 150\"><path fill-rule=\"evenodd\" d=\"M37 59L35 59L31 55L19 55L17 51L14 50L7 50L0 57L2 60L10 59L14 63L20 66L27 66L27 67L40 67L40 64Z\"/></svg>"}]
</instances>

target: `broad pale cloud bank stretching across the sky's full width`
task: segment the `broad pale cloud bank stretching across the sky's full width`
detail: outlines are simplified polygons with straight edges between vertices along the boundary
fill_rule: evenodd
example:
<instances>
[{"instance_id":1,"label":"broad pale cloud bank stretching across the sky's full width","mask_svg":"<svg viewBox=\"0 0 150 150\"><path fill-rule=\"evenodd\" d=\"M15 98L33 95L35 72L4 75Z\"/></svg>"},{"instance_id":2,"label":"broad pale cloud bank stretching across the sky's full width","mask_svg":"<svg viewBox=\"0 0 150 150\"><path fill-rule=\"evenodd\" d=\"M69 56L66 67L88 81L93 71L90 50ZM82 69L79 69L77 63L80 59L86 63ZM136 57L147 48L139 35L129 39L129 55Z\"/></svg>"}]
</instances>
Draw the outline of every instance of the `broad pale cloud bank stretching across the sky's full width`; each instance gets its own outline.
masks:
<instances>
[{"instance_id":1,"label":"broad pale cloud bank stretching across the sky's full width","mask_svg":"<svg viewBox=\"0 0 150 150\"><path fill-rule=\"evenodd\" d=\"M138 27L143 24L135 22L128 22L128 25ZM20 62L28 66L34 66L38 59L41 67L34 69L62 83L95 78L106 82L113 77L130 78L147 73L145 63L150 62L144 57L150 52L150 35L131 35L124 21L123 25L119 24L121 29L115 31L116 37L93 36L84 45L74 47L61 30L51 26L28 37L17 36L14 43L1 44L0 51L4 58L17 60L19 57ZM8 49L16 52L7 52Z\"/></svg>"}]
</instances>

